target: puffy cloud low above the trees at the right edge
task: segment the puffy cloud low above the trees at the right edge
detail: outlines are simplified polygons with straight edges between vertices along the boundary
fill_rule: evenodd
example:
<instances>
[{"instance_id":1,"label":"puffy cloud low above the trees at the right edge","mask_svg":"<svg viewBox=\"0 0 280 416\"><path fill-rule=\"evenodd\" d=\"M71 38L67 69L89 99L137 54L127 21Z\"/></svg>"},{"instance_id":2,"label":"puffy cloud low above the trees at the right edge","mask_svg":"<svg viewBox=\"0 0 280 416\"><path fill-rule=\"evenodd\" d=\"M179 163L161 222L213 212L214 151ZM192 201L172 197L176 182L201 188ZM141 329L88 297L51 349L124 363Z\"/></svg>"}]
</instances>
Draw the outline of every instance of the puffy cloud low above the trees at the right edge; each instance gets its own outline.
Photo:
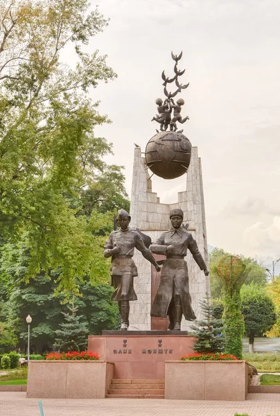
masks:
<instances>
[{"instance_id":1,"label":"puffy cloud low above the trees at the right edge","mask_svg":"<svg viewBox=\"0 0 280 416\"><path fill-rule=\"evenodd\" d=\"M280 216L274 216L272 224L257 222L244 229L243 239L250 248L265 252L279 251Z\"/></svg>"}]
</instances>

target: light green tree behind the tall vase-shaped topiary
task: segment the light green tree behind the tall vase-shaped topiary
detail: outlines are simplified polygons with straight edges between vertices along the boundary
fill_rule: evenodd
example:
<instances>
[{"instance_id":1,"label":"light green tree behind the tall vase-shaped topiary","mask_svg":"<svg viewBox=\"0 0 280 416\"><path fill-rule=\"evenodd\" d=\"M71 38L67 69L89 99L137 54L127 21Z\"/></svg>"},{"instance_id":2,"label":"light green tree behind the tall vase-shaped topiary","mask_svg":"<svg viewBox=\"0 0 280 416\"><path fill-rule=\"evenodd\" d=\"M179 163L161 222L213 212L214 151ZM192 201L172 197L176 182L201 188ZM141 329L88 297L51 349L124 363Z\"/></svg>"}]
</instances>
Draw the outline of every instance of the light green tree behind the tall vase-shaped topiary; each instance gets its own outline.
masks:
<instances>
[{"instance_id":1,"label":"light green tree behind the tall vase-shaped topiary","mask_svg":"<svg viewBox=\"0 0 280 416\"><path fill-rule=\"evenodd\" d=\"M210 260L210 284L211 284L211 297L212 299L217 299L222 295L222 284L220 278L216 275L215 271L218 266L219 261L225 256L232 256L222 248L214 248L214 250L209 254ZM251 257L244 257L242 255L237 256L243 263L250 268L245 284L250 284L251 281L255 281L258 284L263 284L266 282L266 270L261 266L255 259Z\"/></svg>"}]
</instances>

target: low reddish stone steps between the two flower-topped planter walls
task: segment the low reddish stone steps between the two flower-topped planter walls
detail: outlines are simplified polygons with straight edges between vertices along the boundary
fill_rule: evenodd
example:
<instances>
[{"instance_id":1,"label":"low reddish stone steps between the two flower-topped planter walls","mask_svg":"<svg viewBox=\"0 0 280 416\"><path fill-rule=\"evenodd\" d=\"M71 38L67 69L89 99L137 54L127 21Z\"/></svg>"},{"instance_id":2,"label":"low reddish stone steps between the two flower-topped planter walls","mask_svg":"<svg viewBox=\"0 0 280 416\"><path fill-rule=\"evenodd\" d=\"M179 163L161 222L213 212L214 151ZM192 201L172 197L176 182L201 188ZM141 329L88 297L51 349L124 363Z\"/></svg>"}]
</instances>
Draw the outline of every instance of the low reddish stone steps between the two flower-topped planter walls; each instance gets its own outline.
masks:
<instances>
[{"instance_id":1,"label":"low reddish stone steps between the two flower-topped planter walls","mask_svg":"<svg viewBox=\"0 0 280 416\"><path fill-rule=\"evenodd\" d=\"M164 379L112 379L108 399L164 399Z\"/></svg>"}]
</instances>

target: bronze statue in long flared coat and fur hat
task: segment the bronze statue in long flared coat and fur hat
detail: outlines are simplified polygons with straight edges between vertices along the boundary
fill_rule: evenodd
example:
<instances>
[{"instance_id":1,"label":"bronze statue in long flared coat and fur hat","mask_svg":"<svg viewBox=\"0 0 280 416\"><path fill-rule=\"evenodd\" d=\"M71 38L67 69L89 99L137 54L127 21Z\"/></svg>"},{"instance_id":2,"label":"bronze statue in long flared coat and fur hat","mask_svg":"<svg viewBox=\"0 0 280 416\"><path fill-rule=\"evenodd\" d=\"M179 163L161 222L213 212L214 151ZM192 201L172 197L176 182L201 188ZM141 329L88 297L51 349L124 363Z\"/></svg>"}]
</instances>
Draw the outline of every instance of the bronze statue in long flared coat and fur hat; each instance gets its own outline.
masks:
<instances>
[{"instance_id":1,"label":"bronze statue in long flared coat and fur hat","mask_svg":"<svg viewBox=\"0 0 280 416\"><path fill-rule=\"evenodd\" d=\"M195 320L195 313L191 307L191 295L189 293L189 275L184 257L187 249L193 254L204 275L209 271L205 261L198 251L198 245L193 236L186 231L183 222L182 209L170 211L171 227L161 234L159 239L150 246L150 250L156 254L166 255L164 266L161 270L159 288L152 304L152 316L169 316L168 329L180 331L182 314L186 320Z\"/></svg>"}]
</instances>

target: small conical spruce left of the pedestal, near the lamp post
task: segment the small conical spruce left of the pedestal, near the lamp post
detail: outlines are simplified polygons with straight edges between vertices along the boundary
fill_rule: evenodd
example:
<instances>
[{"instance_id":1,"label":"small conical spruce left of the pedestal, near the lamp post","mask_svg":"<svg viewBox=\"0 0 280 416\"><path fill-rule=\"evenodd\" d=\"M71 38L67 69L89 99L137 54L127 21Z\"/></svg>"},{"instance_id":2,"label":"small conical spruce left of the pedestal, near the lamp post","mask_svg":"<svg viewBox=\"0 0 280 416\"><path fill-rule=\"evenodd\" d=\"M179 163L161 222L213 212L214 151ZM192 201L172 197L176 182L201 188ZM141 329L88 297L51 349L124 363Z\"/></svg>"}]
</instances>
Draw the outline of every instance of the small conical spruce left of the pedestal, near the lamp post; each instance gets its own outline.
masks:
<instances>
[{"instance_id":1,"label":"small conical spruce left of the pedestal, near the lamp post","mask_svg":"<svg viewBox=\"0 0 280 416\"><path fill-rule=\"evenodd\" d=\"M68 306L69 313L64 313L64 321L59 324L60 329L55 331L55 345L53 346L59 352L84 351L87 348L87 336L89 329L87 322L82 315L76 315L78 307L74 306L74 297L72 306Z\"/></svg>"}]
</instances>

